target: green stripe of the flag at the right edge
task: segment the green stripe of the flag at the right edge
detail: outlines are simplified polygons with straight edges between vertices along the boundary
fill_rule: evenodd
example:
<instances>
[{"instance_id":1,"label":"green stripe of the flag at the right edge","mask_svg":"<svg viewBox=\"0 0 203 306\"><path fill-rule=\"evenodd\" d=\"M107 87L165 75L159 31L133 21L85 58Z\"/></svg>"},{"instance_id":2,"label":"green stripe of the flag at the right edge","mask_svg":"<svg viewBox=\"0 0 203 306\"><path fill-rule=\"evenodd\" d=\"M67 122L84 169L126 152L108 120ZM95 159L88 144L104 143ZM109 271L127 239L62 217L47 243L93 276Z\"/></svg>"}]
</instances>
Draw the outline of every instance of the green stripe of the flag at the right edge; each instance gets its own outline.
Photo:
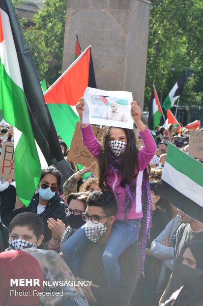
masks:
<instances>
[{"instance_id":1,"label":"green stripe of the flag at the right edge","mask_svg":"<svg viewBox=\"0 0 203 306\"><path fill-rule=\"evenodd\" d=\"M170 142L168 144L166 161L175 170L188 176L192 181L203 187L203 164L181 152Z\"/></svg>"}]
</instances>

